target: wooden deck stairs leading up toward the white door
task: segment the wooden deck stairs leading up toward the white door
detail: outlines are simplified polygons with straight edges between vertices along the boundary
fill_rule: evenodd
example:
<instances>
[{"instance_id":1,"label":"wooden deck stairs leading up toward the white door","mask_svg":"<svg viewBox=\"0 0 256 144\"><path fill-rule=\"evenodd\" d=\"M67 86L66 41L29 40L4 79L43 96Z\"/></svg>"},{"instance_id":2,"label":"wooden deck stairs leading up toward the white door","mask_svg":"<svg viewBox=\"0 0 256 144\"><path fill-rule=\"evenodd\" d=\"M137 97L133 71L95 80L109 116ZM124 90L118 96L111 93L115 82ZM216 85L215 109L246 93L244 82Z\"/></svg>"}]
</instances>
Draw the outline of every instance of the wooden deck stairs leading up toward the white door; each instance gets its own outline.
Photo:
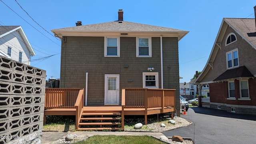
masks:
<instances>
[{"instance_id":1,"label":"wooden deck stairs leading up toward the white door","mask_svg":"<svg viewBox=\"0 0 256 144\"><path fill-rule=\"evenodd\" d=\"M84 110L78 124L78 130L119 130L121 128L121 112L118 110Z\"/></svg>"}]
</instances>

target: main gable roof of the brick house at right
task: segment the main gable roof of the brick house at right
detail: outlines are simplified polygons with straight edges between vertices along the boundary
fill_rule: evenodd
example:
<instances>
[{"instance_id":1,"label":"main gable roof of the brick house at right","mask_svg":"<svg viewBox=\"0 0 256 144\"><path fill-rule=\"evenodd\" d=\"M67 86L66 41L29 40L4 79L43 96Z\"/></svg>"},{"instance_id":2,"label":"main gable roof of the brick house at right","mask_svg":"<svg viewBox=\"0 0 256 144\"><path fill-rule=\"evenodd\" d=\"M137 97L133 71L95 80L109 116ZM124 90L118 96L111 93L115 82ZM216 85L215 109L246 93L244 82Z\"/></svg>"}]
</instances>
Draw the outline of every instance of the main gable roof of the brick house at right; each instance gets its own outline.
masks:
<instances>
[{"instance_id":1,"label":"main gable roof of the brick house at right","mask_svg":"<svg viewBox=\"0 0 256 144\"><path fill-rule=\"evenodd\" d=\"M256 26L254 18L223 18L208 61L201 74L196 79L196 84L199 84L200 81L207 74L208 70L212 68L212 64L215 60L218 50L221 48L220 43L223 40L224 34L228 26L234 29L236 31L236 34L240 35L244 40L246 40L246 42L248 42L248 44L250 44L256 50L256 34L254 36L254 33L256 32ZM209 82L202 82L201 84L204 83Z\"/></svg>"}]
</instances>

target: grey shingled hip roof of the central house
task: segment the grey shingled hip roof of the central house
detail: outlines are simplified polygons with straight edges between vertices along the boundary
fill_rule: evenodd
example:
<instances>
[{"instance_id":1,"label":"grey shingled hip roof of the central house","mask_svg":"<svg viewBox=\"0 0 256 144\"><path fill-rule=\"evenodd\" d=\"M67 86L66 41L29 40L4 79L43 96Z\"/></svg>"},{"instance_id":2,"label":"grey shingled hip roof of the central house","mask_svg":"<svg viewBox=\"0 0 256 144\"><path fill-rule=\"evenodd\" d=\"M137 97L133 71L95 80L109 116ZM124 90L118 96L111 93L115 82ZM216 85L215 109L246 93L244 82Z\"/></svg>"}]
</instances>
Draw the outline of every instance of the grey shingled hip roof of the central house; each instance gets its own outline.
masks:
<instances>
[{"instance_id":1,"label":"grey shingled hip roof of the central house","mask_svg":"<svg viewBox=\"0 0 256 144\"><path fill-rule=\"evenodd\" d=\"M152 26L147 24L139 24L127 21L104 22L99 24L89 24L84 26L74 26L69 28L60 28L51 30L55 36L60 39L62 36L89 36L95 33L153 33L178 37L182 39L188 31L178 30L174 28L166 28L161 26Z\"/></svg>"}]
</instances>

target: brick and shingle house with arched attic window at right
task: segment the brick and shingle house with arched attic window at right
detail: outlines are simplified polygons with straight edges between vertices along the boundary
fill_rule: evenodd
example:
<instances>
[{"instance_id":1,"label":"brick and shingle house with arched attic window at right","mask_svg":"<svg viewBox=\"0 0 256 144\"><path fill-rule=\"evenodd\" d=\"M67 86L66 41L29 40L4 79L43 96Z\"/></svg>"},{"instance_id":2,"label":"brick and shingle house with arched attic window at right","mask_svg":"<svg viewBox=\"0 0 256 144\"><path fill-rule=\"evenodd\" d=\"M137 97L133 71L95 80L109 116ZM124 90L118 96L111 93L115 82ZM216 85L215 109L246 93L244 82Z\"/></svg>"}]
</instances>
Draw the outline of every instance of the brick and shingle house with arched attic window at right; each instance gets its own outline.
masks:
<instances>
[{"instance_id":1,"label":"brick and shingle house with arched attic window at right","mask_svg":"<svg viewBox=\"0 0 256 144\"><path fill-rule=\"evenodd\" d=\"M256 115L255 56L255 19L223 18L210 57L195 82L210 86L210 108Z\"/></svg>"}]
</instances>

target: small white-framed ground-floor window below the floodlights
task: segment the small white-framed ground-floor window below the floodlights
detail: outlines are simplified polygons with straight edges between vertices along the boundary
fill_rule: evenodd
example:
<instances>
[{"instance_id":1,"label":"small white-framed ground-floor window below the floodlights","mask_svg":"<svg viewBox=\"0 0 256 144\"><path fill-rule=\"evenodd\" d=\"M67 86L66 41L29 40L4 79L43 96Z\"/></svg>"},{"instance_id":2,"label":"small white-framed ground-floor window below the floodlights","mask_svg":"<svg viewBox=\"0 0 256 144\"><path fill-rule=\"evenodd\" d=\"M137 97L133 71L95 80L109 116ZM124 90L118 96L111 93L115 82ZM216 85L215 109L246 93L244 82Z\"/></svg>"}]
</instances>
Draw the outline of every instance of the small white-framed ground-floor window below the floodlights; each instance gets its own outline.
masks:
<instances>
[{"instance_id":1,"label":"small white-framed ground-floor window below the floodlights","mask_svg":"<svg viewBox=\"0 0 256 144\"><path fill-rule=\"evenodd\" d=\"M143 72L143 88L159 88L158 72Z\"/></svg>"}]
</instances>

